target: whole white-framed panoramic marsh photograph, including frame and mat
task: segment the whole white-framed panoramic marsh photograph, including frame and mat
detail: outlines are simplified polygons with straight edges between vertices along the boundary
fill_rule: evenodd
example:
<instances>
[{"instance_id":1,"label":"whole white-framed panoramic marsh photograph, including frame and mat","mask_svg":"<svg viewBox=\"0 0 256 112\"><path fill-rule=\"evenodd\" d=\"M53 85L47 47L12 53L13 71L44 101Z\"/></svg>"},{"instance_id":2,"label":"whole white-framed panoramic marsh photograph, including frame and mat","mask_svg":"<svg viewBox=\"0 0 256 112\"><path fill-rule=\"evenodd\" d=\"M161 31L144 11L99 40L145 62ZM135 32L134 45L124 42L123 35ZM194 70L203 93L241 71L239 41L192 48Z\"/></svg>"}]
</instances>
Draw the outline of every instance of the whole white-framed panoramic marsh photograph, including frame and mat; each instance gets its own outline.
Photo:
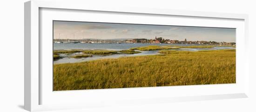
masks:
<instances>
[{"instance_id":1,"label":"whole white-framed panoramic marsh photograph, including frame and mat","mask_svg":"<svg viewBox=\"0 0 256 112\"><path fill-rule=\"evenodd\" d=\"M28 1L25 109L247 98L247 32L245 14Z\"/></svg>"}]
</instances>

